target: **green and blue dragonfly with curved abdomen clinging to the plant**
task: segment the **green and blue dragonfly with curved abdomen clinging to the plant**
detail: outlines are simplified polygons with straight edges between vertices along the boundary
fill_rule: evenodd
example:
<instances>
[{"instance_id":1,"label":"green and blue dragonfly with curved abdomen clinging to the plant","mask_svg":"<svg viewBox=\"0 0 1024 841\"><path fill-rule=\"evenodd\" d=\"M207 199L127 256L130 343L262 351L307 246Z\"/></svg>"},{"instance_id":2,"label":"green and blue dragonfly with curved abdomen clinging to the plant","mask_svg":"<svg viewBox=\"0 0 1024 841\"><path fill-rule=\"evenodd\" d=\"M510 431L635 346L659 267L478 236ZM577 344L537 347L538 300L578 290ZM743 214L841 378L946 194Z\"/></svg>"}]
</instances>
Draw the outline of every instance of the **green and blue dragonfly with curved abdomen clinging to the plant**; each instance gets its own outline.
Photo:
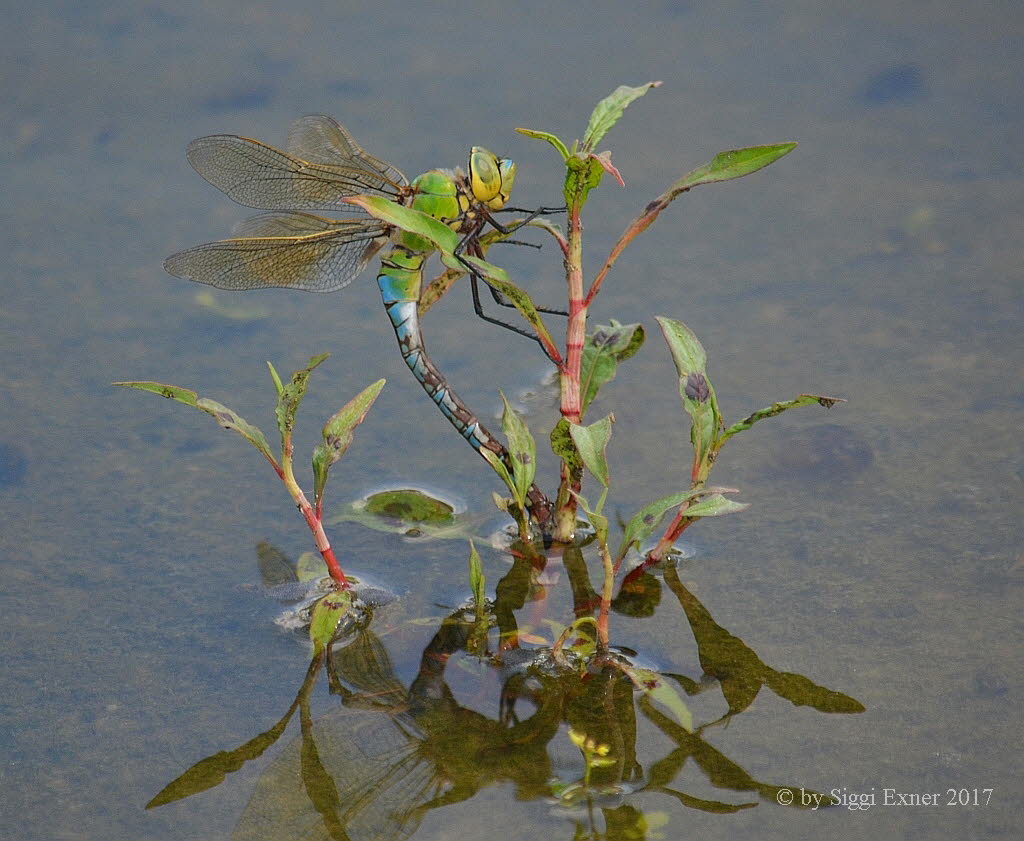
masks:
<instances>
[{"instance_id":1,"label":"green and blue dragonfly with curved abdomen clinging to the plant","mask_svg":"<svg viewBox=\"0 0 1024 841\"><path fill-rule=\"evenodd\" d=\"M427 213L461 236L460 248L480 256L478 237L486 225L503 234L513 229L501 225L492 214L508 204L514 162L473 146L468 172L433 169L410 182L397 168L365 152L341 124L326 115L296 120L287 152L249 137L214 134L193 140L186 158L231 200L270 212L244 220L230 239L172 254L164 262L168 272L226 290L283 287L335 292L348 286L388 246L381 254L377 284L406 364L470 446L484 458L484 451L497 455L511 470L507 449L427 355L419 301L423 266L435 250L433 244L369 216L345 200L383 197ZM346 218L321 215L324 212L344 213ZM468 265L467 270L473 283L474 308L485 320L497 322L483 314L476 277ZM536 486L528 499L535 519L545 522L550 502Z\"/></svg>"}]
</instances>

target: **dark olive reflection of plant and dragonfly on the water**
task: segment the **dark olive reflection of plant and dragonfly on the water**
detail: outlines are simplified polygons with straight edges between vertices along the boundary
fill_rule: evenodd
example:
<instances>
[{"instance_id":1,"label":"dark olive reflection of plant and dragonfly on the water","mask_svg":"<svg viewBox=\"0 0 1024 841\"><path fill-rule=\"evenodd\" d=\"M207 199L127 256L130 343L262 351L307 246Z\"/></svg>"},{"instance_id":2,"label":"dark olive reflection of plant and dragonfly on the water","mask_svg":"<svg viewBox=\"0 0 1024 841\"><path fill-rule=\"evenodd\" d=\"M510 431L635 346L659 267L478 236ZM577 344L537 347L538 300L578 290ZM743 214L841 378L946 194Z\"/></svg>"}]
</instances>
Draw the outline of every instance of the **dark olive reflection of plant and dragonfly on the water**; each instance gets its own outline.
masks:
<instances>
[{"instance_id":1,"label":"dark olive reflection of plant and dragonfly on the water","mask_svg":"<svg viewBox=\"0 0 1024 841\"><path fill-rule=\"evenodd\" d=\"M720 690L724 715L689 728L668 714L676 710L654 703L656 693L638 693L626 670L612 662L639 663L634 651L613 649L603 661L579 657L571 634L564 632L553 644L538 644L542 640L531 629L546 623L560 627L543 616L551 580L546 567L553 560L564 564L575 616L588 616L595 606L584 551L564 548L556 559L514 545L515 560L499 582L496 599L479 607L463 605L438 620L409 685L396 676L381 639L389 630L388 608L377 608L380 616L372 622L374 608L368 607L358 624L313 658L295 700L272 727L198 762L147 808L220 785L273 745L296 712L300 734L259 776L234 830L239 841L404 839L431 810L501 784L511 784L518 800L561 815L572 827L571 835L566 833L572 839L655 837L651 833L667 818L665 812L645 811L641 794L647 797L644 805L651 795L664 795L713 813L753 808L759 801L797 808L833 805L828 795L806 787L755 779L706 734L740 715L765 686L796 706L824 713L864 707L803 675L766 665L715 622L674 564L660 579L647 572L627 576L614 607L634 618L650 616L667 588L692 631L702 674L662 674L686 696ZM261 567L266 554L263 547ZM325 673L340 704L313 718L310 698ZM497 713L473 708L481 705ZM657 738L638 739L642 728ZM652 742L660 747L638 747ZM709 785L722 799L686 791L707 791Z\"/></svg>"}]
</instances>

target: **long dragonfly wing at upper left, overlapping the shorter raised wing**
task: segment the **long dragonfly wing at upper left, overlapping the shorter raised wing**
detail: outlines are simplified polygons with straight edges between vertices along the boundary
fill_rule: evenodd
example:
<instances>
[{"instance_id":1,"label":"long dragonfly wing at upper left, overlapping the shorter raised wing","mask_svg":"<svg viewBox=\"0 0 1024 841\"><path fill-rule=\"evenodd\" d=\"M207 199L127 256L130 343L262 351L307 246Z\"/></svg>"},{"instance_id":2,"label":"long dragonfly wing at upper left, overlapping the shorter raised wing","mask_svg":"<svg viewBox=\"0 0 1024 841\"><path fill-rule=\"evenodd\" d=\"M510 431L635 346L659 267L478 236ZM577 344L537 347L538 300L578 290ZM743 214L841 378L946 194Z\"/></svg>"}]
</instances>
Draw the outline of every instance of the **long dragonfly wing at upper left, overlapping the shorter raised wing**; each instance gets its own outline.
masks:
<instances>
[{"instance_id":1,"label":"long dragonfly wing at upper left, overlapping the shorter raised wing","mask_svg":"<svg viewBox=\"0 0 1024 841\"><path fill-rule=\"evenodd\" d=\"M365 193L399 199L407 192L403 182L372 173L361 165L311 163L234 134L193 140L185 157L225 196L240 205L263 210L359 213L343 199Z\"/></svg>"}]
</instances>

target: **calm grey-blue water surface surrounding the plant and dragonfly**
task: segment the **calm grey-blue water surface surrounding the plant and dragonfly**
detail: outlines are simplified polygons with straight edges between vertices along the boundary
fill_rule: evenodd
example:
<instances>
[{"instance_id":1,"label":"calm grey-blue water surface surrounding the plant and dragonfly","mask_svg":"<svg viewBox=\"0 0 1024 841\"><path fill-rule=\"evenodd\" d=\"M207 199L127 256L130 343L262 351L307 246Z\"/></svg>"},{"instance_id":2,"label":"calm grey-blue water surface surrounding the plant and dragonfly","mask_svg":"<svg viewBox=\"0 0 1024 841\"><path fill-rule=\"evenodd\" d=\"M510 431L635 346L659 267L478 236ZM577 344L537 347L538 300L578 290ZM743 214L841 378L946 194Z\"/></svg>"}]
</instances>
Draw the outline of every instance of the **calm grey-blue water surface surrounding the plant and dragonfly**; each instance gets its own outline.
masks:
<instances>
[{"instance_id":1,"label":"calm grey-blue water surface surrounding the plant and dragonfly","mask_svg":"<svg viewBox=\"0 0 1024 841\"><path fill-rule=\"evenodd\" d=\"M293 703L308 653L273 624L280 605L247 585L258 581L258 542L293 556L309 546L275 477L237 437L110 382L178 382L270 428L264 360L290 371L330 350L303 406L300 450L340 403L389 381L334 477L334 499L395 481L433 487L483 517L479 532L489 528L497 485L413 382L370 272L331 297L273 291L213 303L164 276L167 254L226 235L245 215L187 167L185 143L213 132L280 142L294 117L325 112L410 175L486 144L519 163L517 202L552 204L555 156L513 128L571 137L616 85L663 79L607 138L627 187L606 183L588 206L590 267L650 198L715 152L801 146L766 172L677 202L616 265L595 317L685 321L733 418L805 390L849 400L827 415L766 421L726 449L716 480L753 506L688 533L696 553L680 585L770 669L759 674L805 675L866 712L828 715L762 688L727 727L681 745L641 710L636 791L598 806L618 809L608 819L620 838L643 837L640 814L648 838L1016 837L1022 24L1015 4L998 2L629 11L49 2L8 17L0 835L178 841L267 837L260 827L276 826L269 837L332 837L294 796L295 720L222 785L143 809ZM501 258L557 301L554 254ZM233 307L245 311L225 311ZM544 373L536 348L472 318L458 290L425 329L482 416L499 406L496 386L516 393ZM686 469L659 341L595 407L615 413L609 505L624 516L676 490ZM554 420L543 401L530 410L539 430ZM545 457L546 485L553 470ZM466 544L354 522L332 537L346 565L404 594L372 630L408 703L438 622L468 594ZM497 552L484 566L492 583L510 569ZM551 585L554 616L570 611L566 579ZM612 617L615 641L699 681L707 663L690 622L660 585L652 617ZM507 675L481 678L474 663L454 658L443 676L452 703L407 724L426 733L418 761L400 786L376 786L375 808L406 814L414 804L415 819L391 837L572 838L585 810L543 797L540 773L544 763L563 782L582 772L571 715L559 712L557 732L532 753L522 743L495 749L486 740L500 734L484 719L500 720ZM688 699L697 722L727 711L718 681ZM539 709L517 708L524 719ZM342 708L323 679L309 695L306 730L336 782L350 783L353 748L385 772L395 720ZM486 748L477 777L431 742L459 727ZM690 761L666 760L687 750ZM712 752L759 784L873 790L877 805L780 807L765 794L773 790L721 785L731 766ZM663 788L756 807L721 814L655 791L676 760ZM431 797L456 782L468 794L416 810L429 802L417 788L428 780L440 786ZM886 806L886 788L937 792L942 805ZM988 805L946 806L949 789L993 792ZM270 812L284 821L288 808L298 823L286 832ZM385 826L360 819L352 838Z\"/></svg>"}]
</instances>

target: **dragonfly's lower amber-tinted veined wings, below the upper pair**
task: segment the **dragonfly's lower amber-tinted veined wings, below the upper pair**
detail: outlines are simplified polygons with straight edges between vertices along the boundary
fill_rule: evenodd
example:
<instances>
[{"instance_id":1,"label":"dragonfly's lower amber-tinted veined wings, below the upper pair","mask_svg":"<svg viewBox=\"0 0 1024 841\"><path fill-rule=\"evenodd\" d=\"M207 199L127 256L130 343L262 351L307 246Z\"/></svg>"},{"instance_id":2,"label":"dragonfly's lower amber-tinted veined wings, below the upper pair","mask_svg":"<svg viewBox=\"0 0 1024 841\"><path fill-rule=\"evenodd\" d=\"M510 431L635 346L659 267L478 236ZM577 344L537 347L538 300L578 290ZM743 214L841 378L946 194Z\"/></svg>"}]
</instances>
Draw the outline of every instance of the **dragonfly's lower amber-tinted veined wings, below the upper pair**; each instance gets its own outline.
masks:
<instances>
[{"instance_id":1,"label":"dragonfly's lower amber-tinted veined wings, below the upper pair","mask_svg":"<svg viewBox=\"0 0 1024 841\"><path fill-rule=\"evenodd\" d=\"M309 213L265 213L242 228L247 236L172 254L164 268L219 289L335 292L348 286L387 242L387 228L375 220L339 221Z\"/></svg>"}]
</instances>

